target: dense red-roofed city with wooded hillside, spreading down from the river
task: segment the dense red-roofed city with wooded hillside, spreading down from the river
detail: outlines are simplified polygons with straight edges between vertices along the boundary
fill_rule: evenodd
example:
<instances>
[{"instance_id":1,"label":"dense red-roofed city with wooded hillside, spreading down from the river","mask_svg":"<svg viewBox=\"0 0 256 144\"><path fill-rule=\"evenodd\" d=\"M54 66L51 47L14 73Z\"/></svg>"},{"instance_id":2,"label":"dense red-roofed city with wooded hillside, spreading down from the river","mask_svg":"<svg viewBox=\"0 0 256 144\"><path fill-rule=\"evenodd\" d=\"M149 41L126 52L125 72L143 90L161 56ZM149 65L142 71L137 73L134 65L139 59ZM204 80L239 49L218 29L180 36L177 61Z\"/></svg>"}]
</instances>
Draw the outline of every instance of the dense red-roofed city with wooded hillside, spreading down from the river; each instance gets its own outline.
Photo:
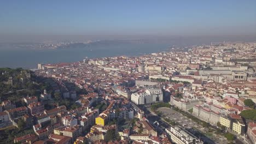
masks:
<instances>
[{"instance_id":1,"label":"dense red-roofed city with wooded hillside, spreading down from the river","mask_svg":"<svg viewBox=\"0 0 256 144\"><path fill-rule=\"evenodd\" d=\"M255 57L230 42L1 68L0 143L256 143Z\"/></svg>"}]
</instances>

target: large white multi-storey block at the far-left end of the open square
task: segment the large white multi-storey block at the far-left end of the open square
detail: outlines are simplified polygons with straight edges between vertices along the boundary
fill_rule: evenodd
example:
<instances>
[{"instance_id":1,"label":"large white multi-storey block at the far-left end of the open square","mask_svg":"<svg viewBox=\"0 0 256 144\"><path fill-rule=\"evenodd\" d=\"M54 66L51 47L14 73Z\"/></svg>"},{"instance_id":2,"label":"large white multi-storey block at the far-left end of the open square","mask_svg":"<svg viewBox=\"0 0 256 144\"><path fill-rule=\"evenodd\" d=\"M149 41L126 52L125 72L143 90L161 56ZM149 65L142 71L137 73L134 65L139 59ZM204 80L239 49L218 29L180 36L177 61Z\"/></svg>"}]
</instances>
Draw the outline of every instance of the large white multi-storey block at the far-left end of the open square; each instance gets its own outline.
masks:
<instances>
[{"instance_id":1,"label":"large white multi-storey block at the far-left end of the open square","mask_svg":"<svg viewBox=\"0 0 256 144\"><path fill-rule=\"evenodd\" d=\"M131 95L131 100L137 105L152 105L163 101L163 93L160 88L142 89Z\"/></svg>"}]
</instances>

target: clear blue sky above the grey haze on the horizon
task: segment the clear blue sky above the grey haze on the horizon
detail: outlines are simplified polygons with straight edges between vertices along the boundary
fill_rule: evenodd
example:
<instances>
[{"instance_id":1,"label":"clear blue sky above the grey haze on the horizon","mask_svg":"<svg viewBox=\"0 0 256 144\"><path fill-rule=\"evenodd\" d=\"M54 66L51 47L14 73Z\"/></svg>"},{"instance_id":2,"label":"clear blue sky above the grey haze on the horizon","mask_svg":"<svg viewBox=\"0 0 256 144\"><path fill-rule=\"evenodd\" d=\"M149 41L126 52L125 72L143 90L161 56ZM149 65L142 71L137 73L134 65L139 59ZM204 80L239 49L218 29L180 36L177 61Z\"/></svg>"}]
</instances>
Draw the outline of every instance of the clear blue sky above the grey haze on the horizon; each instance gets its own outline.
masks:
<instances>
[{"instance_id":1,"label":"clear blue sky above the grey haze on the horizon","mask_svg":"<svg viewBox=\"0 0 256 144\"><path fill-rule=\"evenodd\" d=\"M255 5L255 0L7 0L0 2L0 35L252 35Z\"/></svg>"}]
</instances>

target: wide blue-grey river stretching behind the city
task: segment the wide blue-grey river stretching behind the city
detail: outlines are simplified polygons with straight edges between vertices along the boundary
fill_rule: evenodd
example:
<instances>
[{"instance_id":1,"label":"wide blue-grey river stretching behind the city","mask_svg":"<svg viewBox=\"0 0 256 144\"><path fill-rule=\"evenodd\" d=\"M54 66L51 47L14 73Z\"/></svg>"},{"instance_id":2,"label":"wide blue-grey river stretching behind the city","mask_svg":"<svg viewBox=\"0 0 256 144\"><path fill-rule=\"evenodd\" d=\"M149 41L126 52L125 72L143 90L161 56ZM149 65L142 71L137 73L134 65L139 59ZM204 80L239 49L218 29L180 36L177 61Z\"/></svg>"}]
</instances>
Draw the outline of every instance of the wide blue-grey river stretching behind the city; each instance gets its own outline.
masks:
<instances>
[{"instance_id":1,"label":"wide blue-grey river stretching behind the city","mask_svg":"<svg viewBox=\"0 0 256 144\"><path fill-rule=\"evenodd\" d=\"M63 49L1 49L0 67L37 68L38 63L60 63L82 61L85 57L139 56L146 53L167 51L170 44L97 44L86 47Z\"/></svg>"}]
</instances>

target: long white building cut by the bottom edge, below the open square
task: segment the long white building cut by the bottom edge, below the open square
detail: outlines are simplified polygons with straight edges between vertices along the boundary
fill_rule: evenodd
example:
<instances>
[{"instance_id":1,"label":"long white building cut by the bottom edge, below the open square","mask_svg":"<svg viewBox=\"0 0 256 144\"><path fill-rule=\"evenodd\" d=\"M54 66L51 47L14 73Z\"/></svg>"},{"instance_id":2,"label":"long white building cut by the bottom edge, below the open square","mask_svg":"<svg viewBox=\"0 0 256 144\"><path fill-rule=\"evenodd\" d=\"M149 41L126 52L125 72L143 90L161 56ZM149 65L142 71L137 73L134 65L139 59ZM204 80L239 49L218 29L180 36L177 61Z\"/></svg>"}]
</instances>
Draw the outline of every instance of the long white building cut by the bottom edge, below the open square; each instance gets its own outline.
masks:
<instances>
[{"instance_id":1,"label":"long white building cut by the bottom edge, below the open square","mask_svg":"<svg viewBox=\"0 0 256 144\"><path fill-rule=\"evenodd\" d=\"M177 144L203 144L203 142L198 137L189 133L187 130L181 127L170 127L166 128L165 131L171 137L172 142L175 142Z\"/></svg>"}]
</instances>

